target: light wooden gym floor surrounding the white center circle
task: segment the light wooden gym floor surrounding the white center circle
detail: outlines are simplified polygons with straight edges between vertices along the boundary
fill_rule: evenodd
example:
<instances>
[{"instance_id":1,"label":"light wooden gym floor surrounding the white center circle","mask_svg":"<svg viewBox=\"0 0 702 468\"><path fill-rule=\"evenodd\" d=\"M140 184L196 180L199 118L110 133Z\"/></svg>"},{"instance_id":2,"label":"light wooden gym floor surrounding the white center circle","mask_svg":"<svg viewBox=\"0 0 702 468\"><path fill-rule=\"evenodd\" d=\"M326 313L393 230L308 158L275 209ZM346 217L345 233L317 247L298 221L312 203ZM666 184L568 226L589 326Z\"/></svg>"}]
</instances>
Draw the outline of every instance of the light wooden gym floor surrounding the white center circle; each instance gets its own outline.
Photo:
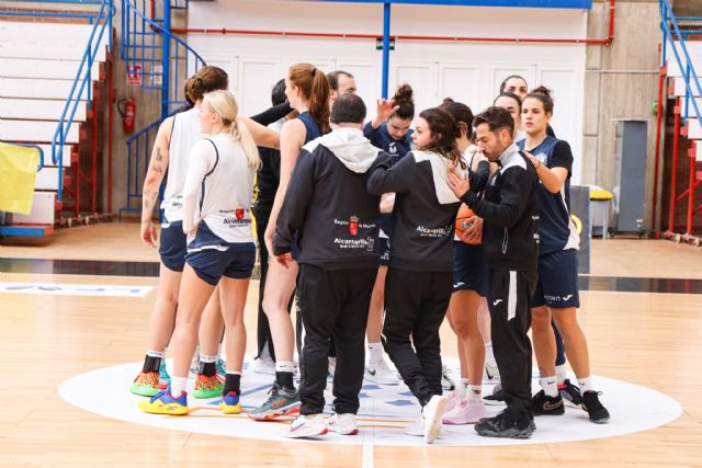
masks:
<instances>
[{"instance_id":1,"label":"light wooden gym floor surrounding the white center circle","mask_svg":"<svg viewBox=\"0 0 702 468\"><path fill-rule=\"evenodd\" d=\"M11 259L157 262L138 225L58 230L46 240L0 246L0 282L157 286L154 276L94 276L18 271ZM683 408L676 421L646 432L577 443L501 447L374 447L372 465L414 466L702 466L702 250L657 240L595 240L592 276L680 278L684 290L581 293L580 323L593 374L661 391ZM50 271L50 270L49 270ZM10 272L10 273L9 273ZM614 283L612 283L614 284ZM616 289L616 288L614 288ZM256 349L251 283L246 323ZM101 367L143 358L156 298L0 294L0 466L284 466L360 467L362 446L298 444L167 431L102 418L65 402L57 387ZM444 355L455 339L444 323ZM110 404L105 401L105 404ZM566 429L567 430L567 429ZM365 465L369 465L366 460Z\"/></svg>"}]
</instances>

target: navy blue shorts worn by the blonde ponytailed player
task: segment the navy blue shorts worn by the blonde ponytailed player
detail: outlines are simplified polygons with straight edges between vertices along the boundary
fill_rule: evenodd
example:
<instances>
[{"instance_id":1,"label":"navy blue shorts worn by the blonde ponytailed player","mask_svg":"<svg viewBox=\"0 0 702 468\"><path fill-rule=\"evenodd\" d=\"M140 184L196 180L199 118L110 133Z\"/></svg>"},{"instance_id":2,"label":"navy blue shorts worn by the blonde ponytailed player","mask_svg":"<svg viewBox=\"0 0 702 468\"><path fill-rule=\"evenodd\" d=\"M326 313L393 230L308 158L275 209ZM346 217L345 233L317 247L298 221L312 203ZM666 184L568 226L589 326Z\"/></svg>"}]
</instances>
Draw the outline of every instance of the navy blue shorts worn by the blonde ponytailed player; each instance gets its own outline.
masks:
<instances>
[{"instance_id":1,"label":"navy blue shorts worn by the blonde ponytailed player","mask_svg":"<svg viewBox=\"0 0 702 468\"><path fill-rule=\"evenodd\" d=\"M256 262L256 244L225 242L203 221L197 227L195 239L188 244L185 261L200 279L213 286L219 283L222 276L250 278Z\"/></svg>"}]
</instances>

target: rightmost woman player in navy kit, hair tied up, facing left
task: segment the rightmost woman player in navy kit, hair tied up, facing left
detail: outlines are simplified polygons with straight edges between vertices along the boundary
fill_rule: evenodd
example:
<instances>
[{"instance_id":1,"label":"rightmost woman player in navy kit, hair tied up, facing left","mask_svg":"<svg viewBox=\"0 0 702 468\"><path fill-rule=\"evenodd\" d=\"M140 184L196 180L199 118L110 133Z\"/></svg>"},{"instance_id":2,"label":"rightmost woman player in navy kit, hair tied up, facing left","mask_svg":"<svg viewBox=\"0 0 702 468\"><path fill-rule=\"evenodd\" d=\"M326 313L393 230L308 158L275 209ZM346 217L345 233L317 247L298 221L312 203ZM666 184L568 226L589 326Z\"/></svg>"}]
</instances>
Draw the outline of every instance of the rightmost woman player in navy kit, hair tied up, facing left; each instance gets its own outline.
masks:
<instances>
[{"instance_id":1,"label":"rightmost woman player in navy kit, hair tied up, facing left","mask_svg":"<svg viewBox=\"0 0 702 468\"><path fill-rule=\"evenodd\" d=\"M553 116L553 100L541 87L526 95L522 116L526 139L518 142L530 153L541 180L539 283L531 303L534 351L541 374L542 390L532 400L535 415L563 414L563 398L558 392L554 362L556 344L552 317L561 331L568 361L582 391L582 408L592 422L609 420L590 379L590 364L585 334L578 324L578 247L580 238L570 219L570 146L546 134Z\"/></svg>"}]
</instances>

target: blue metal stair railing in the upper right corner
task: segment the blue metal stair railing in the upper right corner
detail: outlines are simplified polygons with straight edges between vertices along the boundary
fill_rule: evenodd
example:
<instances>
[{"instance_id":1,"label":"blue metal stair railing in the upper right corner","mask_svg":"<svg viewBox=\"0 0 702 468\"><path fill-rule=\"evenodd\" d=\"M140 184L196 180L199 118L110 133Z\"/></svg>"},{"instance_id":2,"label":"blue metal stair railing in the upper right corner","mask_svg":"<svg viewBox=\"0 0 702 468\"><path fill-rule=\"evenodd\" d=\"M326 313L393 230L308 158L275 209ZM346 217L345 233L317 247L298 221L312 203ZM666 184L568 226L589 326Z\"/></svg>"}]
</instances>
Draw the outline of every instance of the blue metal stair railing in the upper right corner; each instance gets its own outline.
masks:
<instances>
[{"instance_id":1,"label":"blue metal stair railing in the upper right corner","mask_svg":"<svg viewBox=\"0 0 702 468\"><path fill-rule=\"evenodd\" d=\"M702 113L700 112L700 107L698 105L695 98L695 92L698 96L702 96L702 85L700 84L700 78L694 69L694 64L692 62L692 58L690 57L690 53L688 52L688 47L686 45L686 35L682 31L680 31L680 26L678 21L681 19L676 18L672 12L672 7L670 5L670 0L658 0L658 8L660 10L660 30L663 32L663 47L660 54L660 66L665 67L668 61L668 43L670 43L670 50L672 52L676 61L678 62L678 67L680 72L683 73L684 80L684 111L682 114L682 118L687 122L688 116L690 115L690 103L692 103L692 109L694 110L694 115L698 118L698 122L702 124ZM697 20L693 18L684 18L684 20ZM677 36L678 41L676 42L673 38L673 33ZM682 53L678 52L680 48ZM684 59L684 60L683 60Z\"/></svg>"}]
</instances>

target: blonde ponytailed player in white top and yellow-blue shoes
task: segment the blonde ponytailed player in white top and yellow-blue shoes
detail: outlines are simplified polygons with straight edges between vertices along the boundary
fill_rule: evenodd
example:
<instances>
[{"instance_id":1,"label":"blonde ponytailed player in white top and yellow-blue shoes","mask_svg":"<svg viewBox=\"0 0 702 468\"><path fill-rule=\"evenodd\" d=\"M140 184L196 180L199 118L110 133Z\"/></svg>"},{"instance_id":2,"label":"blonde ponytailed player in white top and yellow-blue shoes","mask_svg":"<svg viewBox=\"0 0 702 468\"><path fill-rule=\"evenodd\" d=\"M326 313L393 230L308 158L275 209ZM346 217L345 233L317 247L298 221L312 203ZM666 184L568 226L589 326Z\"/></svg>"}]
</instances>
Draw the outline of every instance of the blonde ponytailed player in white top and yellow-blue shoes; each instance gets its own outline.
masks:
<instances>
[{"instance_id":1,"label":"blonde ponytailed player in white top and yellow-blue shoes","mask_svg":"<svg viewBox=\"0 0 702 468\"><path fill-rule=\"evenodd\" d=\"M188 413L190 359L197 345L200 318L217 284L227 330L227 374L219 408L227 414L241 412L244 308L256 259L249 207L261 160L237 114L237 102L228 91L207 93L202 101L199 119L206 137L190 152L182 197L188 254L173 332L173 377L165 391L139 403L146 412Z\"/></svg>"}]
</instances>

